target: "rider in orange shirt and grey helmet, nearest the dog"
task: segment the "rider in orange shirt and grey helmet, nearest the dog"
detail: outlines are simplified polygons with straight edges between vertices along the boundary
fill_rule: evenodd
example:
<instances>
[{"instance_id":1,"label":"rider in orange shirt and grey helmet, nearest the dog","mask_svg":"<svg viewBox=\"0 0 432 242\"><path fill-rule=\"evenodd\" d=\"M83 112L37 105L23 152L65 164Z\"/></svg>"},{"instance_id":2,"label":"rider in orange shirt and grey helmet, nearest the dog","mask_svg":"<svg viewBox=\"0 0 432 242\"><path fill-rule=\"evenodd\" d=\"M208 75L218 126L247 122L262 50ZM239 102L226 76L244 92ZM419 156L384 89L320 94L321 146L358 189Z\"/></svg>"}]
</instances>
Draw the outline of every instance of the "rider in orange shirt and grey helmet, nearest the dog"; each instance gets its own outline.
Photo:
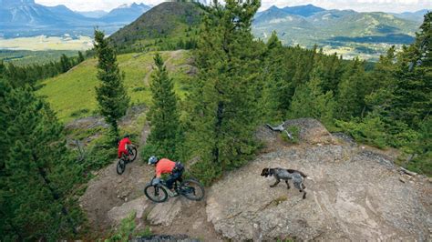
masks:
<instances>
[{"instance_id":1,"label":"rider in orange shirt and grey helmet, nearest the dog","mask_svg":"<svg viewBox=\"0 0 432 242\"><path fill-rule=\"evenodd\" d=\"M160 176L162 176L162 174L170 174L166 181L167 187L170 190L172 189L172 185L176 180L181 182L181 175L183 175L184 166L181 165L180 162L174 162L168 158L158 159L156 156L151 156L149 158L149 165L156 166L156 178L153 179L151 185L158 185L160 183Z\"/></svg>"}]
</instances>

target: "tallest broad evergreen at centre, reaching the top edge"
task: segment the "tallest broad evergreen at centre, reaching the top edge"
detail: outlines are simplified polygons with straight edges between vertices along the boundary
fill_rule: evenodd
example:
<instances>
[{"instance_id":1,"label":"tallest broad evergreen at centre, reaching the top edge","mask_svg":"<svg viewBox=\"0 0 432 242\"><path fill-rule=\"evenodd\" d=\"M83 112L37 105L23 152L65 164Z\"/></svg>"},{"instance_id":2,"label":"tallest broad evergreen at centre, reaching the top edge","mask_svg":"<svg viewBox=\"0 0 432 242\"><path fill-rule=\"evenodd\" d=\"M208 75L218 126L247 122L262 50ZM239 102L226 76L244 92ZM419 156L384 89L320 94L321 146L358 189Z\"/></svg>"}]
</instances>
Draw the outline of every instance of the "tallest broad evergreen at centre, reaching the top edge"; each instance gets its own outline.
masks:
<instances>
[{"instance_id":1,"label":"tallest broad evergreen at centre, reaching the top edge","mask_svg":"<svg viewBox=\"0 0 432 242\"><path fill-rule=\"evenodd\" d=\"M261 68L251 34L260 1L217 1L207 7L196 52L200 69L190 95L190 148L201 162L197 175L208 183L221 171L241 166L256 144L256 92Z\"/></svg>"}]
</instances>

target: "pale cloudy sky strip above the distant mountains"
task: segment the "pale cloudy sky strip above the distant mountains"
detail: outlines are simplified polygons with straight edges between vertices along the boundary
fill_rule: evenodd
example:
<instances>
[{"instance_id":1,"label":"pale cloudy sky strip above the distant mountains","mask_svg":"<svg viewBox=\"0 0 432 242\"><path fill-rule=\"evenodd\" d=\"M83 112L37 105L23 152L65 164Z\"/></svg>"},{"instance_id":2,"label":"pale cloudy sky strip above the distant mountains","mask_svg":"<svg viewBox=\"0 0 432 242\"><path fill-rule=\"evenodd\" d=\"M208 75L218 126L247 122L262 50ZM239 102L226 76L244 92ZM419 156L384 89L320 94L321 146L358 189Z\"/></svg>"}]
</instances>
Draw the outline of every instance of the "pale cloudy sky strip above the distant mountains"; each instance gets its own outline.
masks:
<instances>
[{"instance_id":1,"label":"pale cloudy sky strip above the distant mountains","mask_svg":"<svg viewBox=\"0 0 432 242\"><path fill-rule=\"evenodd\" d=\"M209 1L209 0L208 0ZM118 5L144 3L147 5L158 5L163 0L36 0L41 5L67 5L73 10L109 11ZM413 12L420 9L432 9L432 0L262 0L264 10L272 5L279 7L293 5L317 5L326 9L353 9L358 12Z\"/></svg>"}]
</instances>

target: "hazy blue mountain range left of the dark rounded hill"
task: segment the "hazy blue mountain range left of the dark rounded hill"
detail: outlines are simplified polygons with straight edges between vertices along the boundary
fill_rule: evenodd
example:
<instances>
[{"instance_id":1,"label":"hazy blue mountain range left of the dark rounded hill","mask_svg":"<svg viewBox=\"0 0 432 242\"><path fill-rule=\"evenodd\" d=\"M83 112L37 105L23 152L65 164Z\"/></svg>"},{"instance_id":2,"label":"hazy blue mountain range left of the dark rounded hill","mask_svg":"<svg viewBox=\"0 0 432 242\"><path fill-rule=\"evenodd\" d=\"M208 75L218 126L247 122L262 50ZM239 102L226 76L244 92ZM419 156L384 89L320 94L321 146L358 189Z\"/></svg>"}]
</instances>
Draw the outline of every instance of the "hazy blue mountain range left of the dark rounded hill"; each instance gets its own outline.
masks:
<instances>
[{"instance_id":1,"label":"hazy blue mountain range left of the dark rounded hill","mask_svg":"<svg viewBox=\"0 0 432 242\"><path fill-rule=\"evenodd\" d=\"M150 9L120 5L109 13L74 12L65 5L38 5L34 0L0 0L0 37L32 35L92 35L95 26L112 34Z\"/></svg>"}]
</instances>

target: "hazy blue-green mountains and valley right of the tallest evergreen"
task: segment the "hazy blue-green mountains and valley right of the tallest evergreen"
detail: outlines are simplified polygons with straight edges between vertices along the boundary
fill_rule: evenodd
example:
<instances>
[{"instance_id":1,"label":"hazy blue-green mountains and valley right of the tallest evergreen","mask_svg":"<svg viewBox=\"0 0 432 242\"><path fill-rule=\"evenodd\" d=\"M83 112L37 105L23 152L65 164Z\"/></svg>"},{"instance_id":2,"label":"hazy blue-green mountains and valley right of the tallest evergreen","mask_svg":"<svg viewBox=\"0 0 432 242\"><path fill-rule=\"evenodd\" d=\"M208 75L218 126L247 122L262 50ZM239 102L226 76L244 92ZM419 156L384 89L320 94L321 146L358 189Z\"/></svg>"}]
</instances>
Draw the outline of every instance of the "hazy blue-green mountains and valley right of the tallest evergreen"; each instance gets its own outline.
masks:
<instances>
[{"instance_id":1,"label":"hazy blue-green mountains and valley right of the tallest evergreen","mask_svg":"<svg viewBox=\"0 0 432 242\"><path fill-rule=\"evenodd\" d=\"M283 44L308 47L337 47L346 43L410 44L425 13L427 10L396 15L326 10L314 5L272 6L256 15L252 32L265 40L276 31Z\"/></svg>"}]
</instances>

